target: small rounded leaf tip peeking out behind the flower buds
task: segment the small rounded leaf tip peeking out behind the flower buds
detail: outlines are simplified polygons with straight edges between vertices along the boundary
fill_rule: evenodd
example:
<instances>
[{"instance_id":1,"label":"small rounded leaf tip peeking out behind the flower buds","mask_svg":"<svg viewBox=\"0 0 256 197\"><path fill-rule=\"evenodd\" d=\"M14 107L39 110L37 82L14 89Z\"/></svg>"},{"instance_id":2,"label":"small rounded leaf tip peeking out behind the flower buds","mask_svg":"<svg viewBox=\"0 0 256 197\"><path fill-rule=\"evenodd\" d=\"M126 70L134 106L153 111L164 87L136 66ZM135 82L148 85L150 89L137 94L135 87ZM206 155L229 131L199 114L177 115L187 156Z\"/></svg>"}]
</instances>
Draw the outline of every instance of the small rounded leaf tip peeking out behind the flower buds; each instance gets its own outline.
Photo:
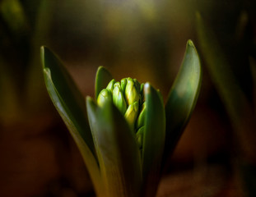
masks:
<instances>
[{"instance_id":1,"label":"small rounded leaf tip peeking out behind the flower buds","mask_svg":"<svg viewBox=\"0 0 256 197\"><path fill-rule=\"evenodd\" d=\"M110 72L104 66L98 68L95 77L95 99L98 98L101 89L105 89L112 79Z\"/></svg>"}]
</instances>

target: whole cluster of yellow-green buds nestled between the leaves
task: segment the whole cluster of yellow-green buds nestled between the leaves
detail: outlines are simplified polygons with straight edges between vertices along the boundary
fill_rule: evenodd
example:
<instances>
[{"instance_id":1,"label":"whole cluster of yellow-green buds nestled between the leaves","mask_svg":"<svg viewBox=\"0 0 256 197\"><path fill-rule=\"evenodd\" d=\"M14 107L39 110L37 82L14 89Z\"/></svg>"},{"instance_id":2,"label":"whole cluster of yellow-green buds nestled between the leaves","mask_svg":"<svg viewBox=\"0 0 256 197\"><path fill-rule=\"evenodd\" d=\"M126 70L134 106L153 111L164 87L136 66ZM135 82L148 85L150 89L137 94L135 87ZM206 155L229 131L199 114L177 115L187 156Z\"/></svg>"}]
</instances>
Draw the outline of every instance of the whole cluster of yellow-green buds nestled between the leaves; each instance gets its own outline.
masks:
<instances>
[{"instance_id":1,"label":"whole cluster of yellow-green buds nestled between the leaves","mask_svg":"<svg viewBox=\"0 0 256 197\"><path fill-rule=\"evenodd\" d=\"M145 124L146 103L143 93L144 84L130 77L123 80L111 80L105 89L100 91L97 98L99 106L106 100L111 100L123 114L128 125L136 132L137 143L142 148L143 131Z\"/></svg>"}]
</instances>

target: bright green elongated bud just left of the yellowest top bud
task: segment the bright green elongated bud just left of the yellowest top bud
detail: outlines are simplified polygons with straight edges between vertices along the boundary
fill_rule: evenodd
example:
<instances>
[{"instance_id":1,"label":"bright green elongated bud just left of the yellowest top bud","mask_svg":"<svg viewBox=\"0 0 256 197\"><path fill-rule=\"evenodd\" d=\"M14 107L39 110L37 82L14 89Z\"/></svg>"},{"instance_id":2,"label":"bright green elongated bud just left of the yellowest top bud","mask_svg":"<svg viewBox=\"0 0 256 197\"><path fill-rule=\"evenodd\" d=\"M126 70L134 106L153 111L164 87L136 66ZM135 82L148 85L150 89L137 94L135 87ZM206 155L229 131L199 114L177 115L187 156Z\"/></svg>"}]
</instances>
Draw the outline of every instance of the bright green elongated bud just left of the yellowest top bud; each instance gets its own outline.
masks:
<instances>
[{"instance_id":1,"label":"bright green elongated bud just left of the yellowest top bud","mask_svg":"<svg viewBox=\"0 0 256 197\"><path fill-rule=\"evenodd\" d=\"M113 103L114 105L119 109L119 111L124 114L127 106L125 99L123 97L123 93L121 91L121 85L119 82L116 82L114 84L114 89L113 89Z\"/></svg>"}]
</instances>

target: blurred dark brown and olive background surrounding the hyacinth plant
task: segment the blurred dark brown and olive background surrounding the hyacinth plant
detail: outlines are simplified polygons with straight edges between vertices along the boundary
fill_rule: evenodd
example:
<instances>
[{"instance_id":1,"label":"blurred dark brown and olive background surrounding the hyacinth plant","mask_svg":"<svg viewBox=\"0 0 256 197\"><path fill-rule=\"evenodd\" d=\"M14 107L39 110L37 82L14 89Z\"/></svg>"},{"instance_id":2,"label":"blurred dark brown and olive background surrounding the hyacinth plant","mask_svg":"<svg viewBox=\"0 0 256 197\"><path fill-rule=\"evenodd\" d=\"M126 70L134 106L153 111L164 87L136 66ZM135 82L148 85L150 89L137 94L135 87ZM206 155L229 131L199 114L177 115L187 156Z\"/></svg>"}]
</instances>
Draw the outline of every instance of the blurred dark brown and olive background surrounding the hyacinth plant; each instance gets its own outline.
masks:
<instances>
[{"instance_id":1,"label":"blurred dark brown and olive background surrounding the hyacinth plant","mask_svg":"<svg viewBox=\"0 0 256 197\"><path fill-rule=\"evenodd\" d=\"M166 99L188 39L202 89L157 196L256 196L255 10L254 0L0 1L0 196L95 196L46 92L41 45L85 96L106 66Z\"/></svg>"}]
</instances>

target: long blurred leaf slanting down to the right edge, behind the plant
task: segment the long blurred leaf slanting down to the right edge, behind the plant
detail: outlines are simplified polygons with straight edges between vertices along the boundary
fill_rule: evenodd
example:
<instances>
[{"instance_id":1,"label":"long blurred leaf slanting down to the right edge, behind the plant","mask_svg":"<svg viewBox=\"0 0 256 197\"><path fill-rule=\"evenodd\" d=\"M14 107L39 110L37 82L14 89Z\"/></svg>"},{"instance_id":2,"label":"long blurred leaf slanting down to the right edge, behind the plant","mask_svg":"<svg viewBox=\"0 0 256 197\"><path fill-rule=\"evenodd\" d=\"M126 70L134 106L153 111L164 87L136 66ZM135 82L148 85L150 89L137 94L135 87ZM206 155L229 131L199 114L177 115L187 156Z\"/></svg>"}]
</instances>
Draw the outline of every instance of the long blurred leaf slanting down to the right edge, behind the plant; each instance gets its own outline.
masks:
<instances>
[{"instance_id":1,"label":"long blurred leaf slanting down to the right edge, behind the plant","mask_svg":"<svg viewBox=\"0 0 256 197\"><path fill-rule=\"evenodd\" d=\"M207 62L207 69L222 102L225 104L226 112L239 139L240 150L243 152L244 158L254 160L254 151L256 151L254 112L235 78L216 35L206 25L199 13L197 14L197 33L202 55ZM253 149L254 151L252 151Z\"/></svg>"}]
</instances>

